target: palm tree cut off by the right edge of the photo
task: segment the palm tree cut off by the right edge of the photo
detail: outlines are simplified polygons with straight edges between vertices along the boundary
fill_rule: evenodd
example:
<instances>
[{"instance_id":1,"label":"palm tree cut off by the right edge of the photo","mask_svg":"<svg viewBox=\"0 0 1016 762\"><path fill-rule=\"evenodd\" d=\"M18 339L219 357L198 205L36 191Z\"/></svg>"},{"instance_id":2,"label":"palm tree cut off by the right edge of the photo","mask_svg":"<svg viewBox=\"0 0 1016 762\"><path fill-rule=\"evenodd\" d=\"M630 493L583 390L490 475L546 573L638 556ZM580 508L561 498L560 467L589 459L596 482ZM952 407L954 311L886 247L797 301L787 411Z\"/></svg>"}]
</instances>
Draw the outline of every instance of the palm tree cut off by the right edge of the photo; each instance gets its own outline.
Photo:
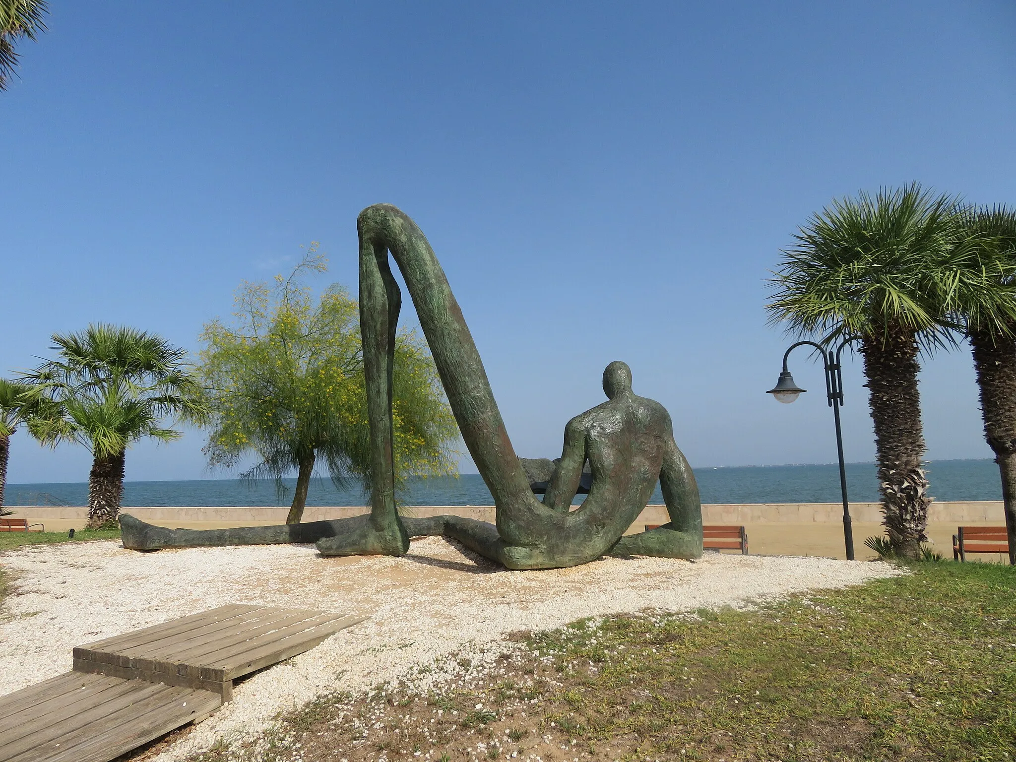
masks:
<instances>
[{"instance_id":1,"label":"palm tree cut off by the right edge of the photo","mask_svg":"<svg viewBox=\"0 0 1016 762\"><path fill-rule=\"evenodd\" d=\"M985 439L1002 477L1009 563L1016 564L1016 209L969 207L961 219L980 237L971 276L985 278L959 307L980 387ZM1001 262L1000 262L1001 260Z\"/></svg>"}]
</instances>

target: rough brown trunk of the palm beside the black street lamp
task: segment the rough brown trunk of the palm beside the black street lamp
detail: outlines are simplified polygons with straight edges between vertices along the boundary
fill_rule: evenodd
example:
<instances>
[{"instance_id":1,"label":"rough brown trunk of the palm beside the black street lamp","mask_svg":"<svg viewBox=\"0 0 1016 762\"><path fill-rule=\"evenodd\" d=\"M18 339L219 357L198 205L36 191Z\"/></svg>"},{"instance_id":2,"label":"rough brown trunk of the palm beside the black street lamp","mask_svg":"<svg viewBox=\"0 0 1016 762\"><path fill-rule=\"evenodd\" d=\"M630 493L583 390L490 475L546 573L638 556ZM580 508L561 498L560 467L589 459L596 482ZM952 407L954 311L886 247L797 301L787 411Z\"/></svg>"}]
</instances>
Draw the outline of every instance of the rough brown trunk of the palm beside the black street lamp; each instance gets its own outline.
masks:
<instances>
[{"instance_id":1,"label":"rough brown trunk of the palm beside the black street lamp","mask_svg":"<svg viewBox=\"0 0 1016 762\"><path fill-rule=\"evenodd\" d=\"M861 352L875 424L883 525L902 558L920 556L928 539L928 480L922 469L925 437L917 389L917 342L912 331L894 326L865 336Z\"/></svg>"}]
</instances>

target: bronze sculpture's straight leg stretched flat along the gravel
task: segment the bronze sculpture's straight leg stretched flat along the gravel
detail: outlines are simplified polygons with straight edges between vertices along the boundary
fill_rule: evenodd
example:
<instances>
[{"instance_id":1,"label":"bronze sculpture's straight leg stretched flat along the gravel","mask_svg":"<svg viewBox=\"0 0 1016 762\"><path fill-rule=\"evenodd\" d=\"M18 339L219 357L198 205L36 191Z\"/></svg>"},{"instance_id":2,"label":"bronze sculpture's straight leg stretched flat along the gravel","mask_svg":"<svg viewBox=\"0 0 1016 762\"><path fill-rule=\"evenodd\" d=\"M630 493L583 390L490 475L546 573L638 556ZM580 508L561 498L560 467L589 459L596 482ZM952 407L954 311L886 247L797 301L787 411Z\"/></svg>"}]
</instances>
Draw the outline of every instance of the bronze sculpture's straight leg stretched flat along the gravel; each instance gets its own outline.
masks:
<instances>
[{"instance_id":1,"label":"bronze sculpture's straight leg stretched flat along the gravel","mask_svg":"<svg viewBox=\"0 0 1016 762\"><path fill-rule=\"evenodd\" d=\"M443 530L442 516L433 518L399 518L402 532L406 536L440 534ZM367 529L370 514L351 516L329 521L308 521L300 524L276 524L273 526L242 526L230 529L170 529L145 523L128 513L120 514L120 534L124 548L134 551L158 551L164 548L219 548L236 545L289 545L294 543L318 543L319 550L326 556L343 556L347 553L328 552L329 541L336 541L335 549L348 547L360 538L357 551L365 555L389 553L386 547L375 543L364 545L363 537L377 537L377 532ZM404 524L403 524L404 522ZM365 531L365 529L367 529ZM324 547L322 547L324 543Z\"/></svg>"}]
</instances>

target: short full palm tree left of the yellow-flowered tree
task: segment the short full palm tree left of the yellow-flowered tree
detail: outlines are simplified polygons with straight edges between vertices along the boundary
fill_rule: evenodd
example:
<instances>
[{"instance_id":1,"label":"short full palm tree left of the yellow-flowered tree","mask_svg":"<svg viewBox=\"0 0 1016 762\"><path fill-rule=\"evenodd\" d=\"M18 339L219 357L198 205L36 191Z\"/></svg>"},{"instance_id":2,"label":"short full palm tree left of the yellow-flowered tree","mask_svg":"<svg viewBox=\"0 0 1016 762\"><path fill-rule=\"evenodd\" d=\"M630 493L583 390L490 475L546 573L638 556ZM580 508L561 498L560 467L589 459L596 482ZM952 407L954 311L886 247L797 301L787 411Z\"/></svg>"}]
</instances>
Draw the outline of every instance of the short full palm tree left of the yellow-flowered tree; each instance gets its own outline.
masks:
<instances>
[{"instance_id":1,"label":"short full palm tree left of the yellow-flowered tree","mask_svg":"<svg viewBox=\"0 0 1016 762\"><path fill-rule=\"evenodd\" d=\"M200 387L186 353L151 333L107 324L54 334L58 359L43 363L24 380L51 402L28 421L29 432L56 446L69 441L91 450L88 526L116 521L123 496L124 459L134 442L162 442L181 433L163 426L167 417L201 421Z\"/></svg>"}]
</instances>

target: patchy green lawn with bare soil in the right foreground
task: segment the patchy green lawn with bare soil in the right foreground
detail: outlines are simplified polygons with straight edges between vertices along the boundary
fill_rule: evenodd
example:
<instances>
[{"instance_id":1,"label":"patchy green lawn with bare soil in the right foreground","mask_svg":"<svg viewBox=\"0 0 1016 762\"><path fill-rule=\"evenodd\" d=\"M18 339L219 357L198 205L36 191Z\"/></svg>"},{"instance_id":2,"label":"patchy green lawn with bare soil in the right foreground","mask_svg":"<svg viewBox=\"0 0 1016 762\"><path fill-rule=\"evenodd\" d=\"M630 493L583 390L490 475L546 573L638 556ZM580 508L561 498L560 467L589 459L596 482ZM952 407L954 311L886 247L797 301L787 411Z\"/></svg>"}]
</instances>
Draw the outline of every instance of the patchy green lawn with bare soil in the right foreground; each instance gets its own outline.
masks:
<instances>
[{"instance_id":1,"label":"patchy green lawn with bare soil in the right foreground","mask_svg":"<svg viewBox=\"0 0 1016 762\"><path fill-rule=\"evenodd\" d=\"M1011 762L1016 570L907 571L755 611L529 634L520 653L450 693L389 686L289 713L272 759L368 762L384 750L394 761L423 750L432 762L471 762L483 739L490 759L544 762ZM195 759L230 758L224 748Z\"/></svg>"}]
</instances>

